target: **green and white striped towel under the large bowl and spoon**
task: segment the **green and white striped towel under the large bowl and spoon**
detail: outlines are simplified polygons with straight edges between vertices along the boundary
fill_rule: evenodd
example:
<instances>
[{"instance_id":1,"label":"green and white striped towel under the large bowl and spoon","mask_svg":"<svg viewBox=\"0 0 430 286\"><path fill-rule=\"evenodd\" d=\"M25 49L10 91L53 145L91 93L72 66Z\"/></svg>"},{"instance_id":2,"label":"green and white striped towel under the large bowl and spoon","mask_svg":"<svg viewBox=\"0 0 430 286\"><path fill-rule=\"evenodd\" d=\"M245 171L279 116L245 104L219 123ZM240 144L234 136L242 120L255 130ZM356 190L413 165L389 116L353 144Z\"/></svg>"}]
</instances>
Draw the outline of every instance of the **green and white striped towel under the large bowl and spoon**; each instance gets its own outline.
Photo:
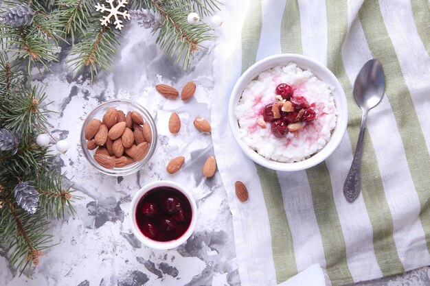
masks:
<instances>
[{"instance_id":1,"label":"green and white striped towel under the large bowl and spoon","mask_svg":"<svg viewBox=\"0 0 430 286\"><path fill-rule=\"evenodd\" d=\"M430 12L428 0L225 1L215 51L212 137L233 214L242 285L276 285L313 263L332 285L430 265ZM307 171L276 172L240 152L227 121L230 92L253 62L301 53L337 75L348 131L334 154ZM359 134L352 84L367 60L386 76L370 111L362 192L343 182ZM240 203L234 182L249 189Z\"/></svg>"}]
</instances>

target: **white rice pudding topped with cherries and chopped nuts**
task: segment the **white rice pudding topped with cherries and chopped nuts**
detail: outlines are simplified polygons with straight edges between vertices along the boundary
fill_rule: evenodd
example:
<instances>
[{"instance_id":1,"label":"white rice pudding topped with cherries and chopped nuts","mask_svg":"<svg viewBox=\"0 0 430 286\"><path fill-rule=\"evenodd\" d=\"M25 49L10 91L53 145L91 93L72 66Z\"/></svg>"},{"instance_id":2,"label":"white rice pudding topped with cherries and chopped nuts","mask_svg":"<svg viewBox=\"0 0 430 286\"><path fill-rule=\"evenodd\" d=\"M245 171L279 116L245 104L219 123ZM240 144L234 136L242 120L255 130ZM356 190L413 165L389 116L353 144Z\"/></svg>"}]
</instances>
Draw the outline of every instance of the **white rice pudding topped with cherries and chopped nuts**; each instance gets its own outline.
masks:
<instances>
[{"instance_id":1,"label":"white rice pudding topped with cherries and chopped nuts","mask_svg":"<svg viewBox=\"0 0 430 286\"><path fill-rule=\"evenodd\" d=\"M235 110L240 138L261 156L282 163L321 150L337 115L332 87L292 62L249 82Z\"/></svg>"}]
</instances>

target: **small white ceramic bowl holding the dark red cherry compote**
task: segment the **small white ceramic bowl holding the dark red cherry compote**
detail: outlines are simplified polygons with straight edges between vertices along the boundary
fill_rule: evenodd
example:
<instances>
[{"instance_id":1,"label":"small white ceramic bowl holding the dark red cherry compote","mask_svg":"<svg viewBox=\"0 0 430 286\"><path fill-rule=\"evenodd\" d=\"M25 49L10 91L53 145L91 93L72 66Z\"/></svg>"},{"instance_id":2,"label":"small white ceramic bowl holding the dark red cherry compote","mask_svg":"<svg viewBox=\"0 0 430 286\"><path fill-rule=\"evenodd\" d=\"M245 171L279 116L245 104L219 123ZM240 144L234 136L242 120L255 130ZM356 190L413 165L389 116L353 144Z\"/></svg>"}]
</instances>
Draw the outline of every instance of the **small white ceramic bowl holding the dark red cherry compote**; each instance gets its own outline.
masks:
<instances>
[{"instance_id":1,"label":"small white ceramic bowl holding the dark red cherry compote","mask_svg":"<svg viewBox=\"0 0 430 286\"><path fill-rule=\"evenodd\" d=\"M136 208L139 204L140 200L144 197L148 191L158 188L158 187L171 187L173 189L177 189L185 197L188 199L188 202L190 202L191 205L191 211L192 211L192 217L190 226L188 227L188 230L185 231L181 237L178 239L170 240L170 241L156 241L153 239L150 239L146 237L141 230L139 230L139 226L137 226L137 220L136 220ZM133 231L133 234L139 241L142 241L142 243L146 244L146 246L149 246L150 248L159 249L159 250L167 250L170 248L176 248L177 246L180 246L182 243L187 241L187 239L192 235L192 232L194 231L194 228L196 226L196 219L197 219L197 206L196 201L192 197L192 193L182 187L180 184L177 184L176 182L170 182L170 181L157 181L157 182L151 182L149 184L146 184L142 189L139 189L135 196L133 197L133 200L131 201L130 211L128 213L128 216L130 217L131 222L131 230Z\"/></svg>"}]
</instances>

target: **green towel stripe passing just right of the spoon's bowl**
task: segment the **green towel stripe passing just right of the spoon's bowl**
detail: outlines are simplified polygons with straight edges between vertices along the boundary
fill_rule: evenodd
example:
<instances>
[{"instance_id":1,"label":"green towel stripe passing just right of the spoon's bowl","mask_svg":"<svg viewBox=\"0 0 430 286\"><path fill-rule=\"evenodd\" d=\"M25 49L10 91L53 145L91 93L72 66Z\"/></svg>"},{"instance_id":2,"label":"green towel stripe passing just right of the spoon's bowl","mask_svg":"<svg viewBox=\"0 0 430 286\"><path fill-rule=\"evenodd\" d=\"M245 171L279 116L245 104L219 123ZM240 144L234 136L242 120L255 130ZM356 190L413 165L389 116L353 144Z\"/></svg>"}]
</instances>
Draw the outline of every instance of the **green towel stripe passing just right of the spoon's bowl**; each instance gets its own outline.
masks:
<instances>
[{"instance_id":1,"label":"green towel stripe passing just right of the spoon's bowl","mask_svg":"<svg viewBox=\"0 0 430 286\"><path fill-rule=\"evenodd\" d=\"M372 54L381 61L383 67L390 71L386 74L385 95L392 106L396 125L405 146L405 155L410 174L421 202L420 219L423 222L429 215L427 213L429 204L426 201L428 200L427 185L429 181L430 155L426 147L422 127L417 124L419 122L418 115L405 83L394 44L387 32L381 6L375 1L367 1L363 4L359 16L360 19L363 19L364 16L371 17L372 21L361 20L367 44ZM378 35L378 39L373 36L375 34ZM401 101L398 100L396 94L401 97ZM429 233L427 233L427 239L428 235ZM429 249L429 243L430 241L427 240L427 249Z\"/></svg>"}]
</instances>

